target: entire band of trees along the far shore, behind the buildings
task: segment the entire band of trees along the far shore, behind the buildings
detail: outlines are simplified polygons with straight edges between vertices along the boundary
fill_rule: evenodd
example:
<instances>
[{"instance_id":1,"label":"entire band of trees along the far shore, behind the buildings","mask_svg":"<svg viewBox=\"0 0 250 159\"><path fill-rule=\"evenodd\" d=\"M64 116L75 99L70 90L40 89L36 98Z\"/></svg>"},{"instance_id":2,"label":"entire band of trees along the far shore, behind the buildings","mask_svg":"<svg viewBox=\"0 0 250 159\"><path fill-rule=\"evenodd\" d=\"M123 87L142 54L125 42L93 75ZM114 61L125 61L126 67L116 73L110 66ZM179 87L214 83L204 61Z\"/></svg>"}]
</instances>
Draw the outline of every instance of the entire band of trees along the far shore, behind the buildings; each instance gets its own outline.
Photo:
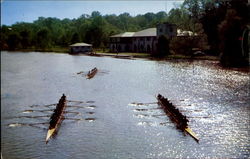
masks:
<instances>
[{"instance_id":1,"label":"entire band of trees along the far shore, behind the buildings","mask_svg":"<svg viewBox=\"0 0 250 159\"><path fill-rule=\"evenodd\" d=\"M249 27L249 8L247 0L185 0L180 7L173 8L169 13L161 11L131 16L129 13L101 15L93 11L91 15L83 14L76 19L39 17L33 23L2 25L1 50L47 50L68 47L76 42L91 43L94 48L106 48L111 35L169 22L176 24L179 29L199 34L201 42L195 47L213 55L222 52L221 62L227 65L232 60L242 58L240 40L244 38L242 33L245 28ZM197 44L192 39L173 39L170 45L185 50Z\"/></svg>"}]
</instances>

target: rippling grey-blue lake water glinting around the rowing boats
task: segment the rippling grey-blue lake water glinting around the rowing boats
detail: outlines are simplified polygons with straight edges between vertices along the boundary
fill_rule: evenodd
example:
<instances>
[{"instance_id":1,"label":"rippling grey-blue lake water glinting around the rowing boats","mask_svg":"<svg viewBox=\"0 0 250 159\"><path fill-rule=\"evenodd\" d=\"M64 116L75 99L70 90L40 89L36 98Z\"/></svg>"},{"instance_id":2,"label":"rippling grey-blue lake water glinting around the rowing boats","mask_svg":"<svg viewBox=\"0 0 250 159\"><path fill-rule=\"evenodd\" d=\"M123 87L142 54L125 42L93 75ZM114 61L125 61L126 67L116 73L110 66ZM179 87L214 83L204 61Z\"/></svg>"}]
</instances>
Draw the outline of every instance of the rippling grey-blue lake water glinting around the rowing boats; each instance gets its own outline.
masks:
<instances>
[{"instance_id":1,"label":"rippling grey-blue lake water glinting around the rowing boats","mask_svg":"<svg viewBox=\"0 0 250 159\"><path fill-rule=\"evenodd\" d=\"M96 76L86 79L94 67L99 69ZM249 158L249 75L214 61L1 52L2 156ZM57 103L63 93L69 113L45 144L54 108L46 105ZM177 130L158 108L158 93L188 117L199 143Z\"/></svg>"}]
</instances>

